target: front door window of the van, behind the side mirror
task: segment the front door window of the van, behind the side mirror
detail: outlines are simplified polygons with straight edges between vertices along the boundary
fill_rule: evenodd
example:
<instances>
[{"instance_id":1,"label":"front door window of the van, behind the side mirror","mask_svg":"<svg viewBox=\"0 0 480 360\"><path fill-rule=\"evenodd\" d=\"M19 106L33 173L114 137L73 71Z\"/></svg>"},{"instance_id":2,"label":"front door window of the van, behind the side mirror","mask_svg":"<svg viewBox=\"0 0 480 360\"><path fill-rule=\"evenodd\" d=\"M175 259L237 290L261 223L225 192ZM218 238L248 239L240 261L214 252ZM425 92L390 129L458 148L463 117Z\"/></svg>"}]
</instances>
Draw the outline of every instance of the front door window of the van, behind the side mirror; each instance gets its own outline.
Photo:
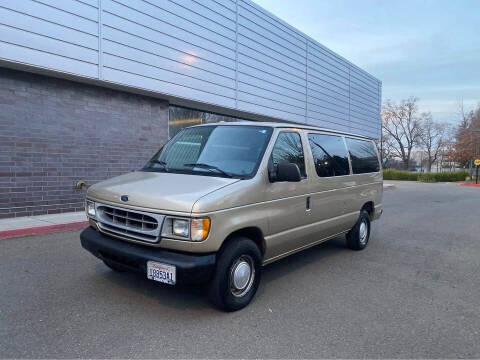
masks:
<instances>
[{"instance_id":1,"label":"front door window of the van, behind the side mirror","mask_svg":"<svg viewBox=\"0 0 480 360\"><path fill-rule=\"evenodd\" d=\"M273 166L281 162L291 162L298 165L302 176L306 176L305 157L303 155L300 134L296 132L282 132L272 151Z\"/></svg>"}]
</instances>

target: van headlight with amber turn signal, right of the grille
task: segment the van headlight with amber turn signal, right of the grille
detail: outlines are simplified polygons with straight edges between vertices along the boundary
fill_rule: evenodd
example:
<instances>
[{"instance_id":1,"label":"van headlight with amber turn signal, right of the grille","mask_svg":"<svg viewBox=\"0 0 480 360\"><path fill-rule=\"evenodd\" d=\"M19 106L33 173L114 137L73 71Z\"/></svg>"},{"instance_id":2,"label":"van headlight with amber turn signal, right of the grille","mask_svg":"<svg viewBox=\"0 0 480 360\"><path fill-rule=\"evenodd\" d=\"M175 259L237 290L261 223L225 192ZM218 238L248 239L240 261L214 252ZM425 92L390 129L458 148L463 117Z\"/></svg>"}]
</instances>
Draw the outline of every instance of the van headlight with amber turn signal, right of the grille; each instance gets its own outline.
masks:
<instances>
[{"instance_id":1,"label":"van headlight with amber turn signal, right of the grille","mask_svg":"<svg viewBox=\"0 0 480 360\"><path fill-rule=\"evenodd\" d=\"M162 226L162 237L187 241L203 241L207 238L209 231L209 218L189 219L167 216Z\"/></svg>"}]
</instances>

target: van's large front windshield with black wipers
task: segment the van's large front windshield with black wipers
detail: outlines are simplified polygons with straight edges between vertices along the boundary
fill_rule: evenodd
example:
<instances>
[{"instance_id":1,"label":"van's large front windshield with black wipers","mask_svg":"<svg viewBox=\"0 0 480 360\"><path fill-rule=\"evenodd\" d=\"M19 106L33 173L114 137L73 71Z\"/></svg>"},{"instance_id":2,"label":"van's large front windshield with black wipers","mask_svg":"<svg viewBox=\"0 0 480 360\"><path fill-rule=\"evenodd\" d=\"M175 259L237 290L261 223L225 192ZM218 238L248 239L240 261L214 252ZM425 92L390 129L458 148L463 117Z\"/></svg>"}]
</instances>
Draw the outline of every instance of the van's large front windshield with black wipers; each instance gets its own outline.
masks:
<instances>
[{"instance_id":1,"label":"van's large front windshield with black wipers","mask_svg":"<svg viewBox=\"0 0 480 360\"><path fill-rule=\"evenodd\" d=\"M144 171L249 178L255 175L272 128L212 125L175 135L145 165Z\"/></svg>"}]
</instances>

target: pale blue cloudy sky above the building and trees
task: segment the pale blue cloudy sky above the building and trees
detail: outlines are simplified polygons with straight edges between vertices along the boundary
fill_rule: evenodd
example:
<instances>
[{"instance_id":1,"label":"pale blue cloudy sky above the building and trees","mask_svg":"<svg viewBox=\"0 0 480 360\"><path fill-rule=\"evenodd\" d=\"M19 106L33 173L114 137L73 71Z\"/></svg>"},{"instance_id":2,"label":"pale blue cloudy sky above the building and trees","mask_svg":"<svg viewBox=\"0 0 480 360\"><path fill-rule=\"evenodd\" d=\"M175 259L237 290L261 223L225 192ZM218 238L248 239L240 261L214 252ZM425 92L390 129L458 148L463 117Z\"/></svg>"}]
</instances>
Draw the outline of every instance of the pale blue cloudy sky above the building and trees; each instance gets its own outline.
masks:
<instances>
[{"instance_id":1,"label":"pale blue cloudy sky above the building and trees","mask_svg":"<svg viewBox=\"0 0 480 360\"><path fill-rule=\"evenodd\" d=\"M254 0L437 121L480 102L480 0Z\"/></svg>"}]
</instances>

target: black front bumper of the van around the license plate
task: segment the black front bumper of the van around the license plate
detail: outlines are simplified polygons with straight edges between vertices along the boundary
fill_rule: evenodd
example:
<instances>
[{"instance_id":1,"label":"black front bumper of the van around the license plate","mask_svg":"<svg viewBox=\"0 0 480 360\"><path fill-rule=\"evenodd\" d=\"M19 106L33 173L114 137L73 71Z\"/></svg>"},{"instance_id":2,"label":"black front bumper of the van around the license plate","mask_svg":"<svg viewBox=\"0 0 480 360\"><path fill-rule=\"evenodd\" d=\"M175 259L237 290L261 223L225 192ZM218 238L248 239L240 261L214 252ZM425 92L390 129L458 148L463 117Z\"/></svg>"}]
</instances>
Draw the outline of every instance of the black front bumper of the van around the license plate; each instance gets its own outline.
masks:
<instances>
[{"instance_id":1,"label":"black front bumper of the van around the license plate","mask_svg":"<svg viewBox=\"0 0 480 360\"><path fill-rule=\"evenodd\" d=\"M177 284L206 282L215 269L215 254L195 255L137 245L103 235L92 227L82 231L80 240L83 248L99 259L145 276L149 260L174 265Z\"/></svg>"}]
</instances>

